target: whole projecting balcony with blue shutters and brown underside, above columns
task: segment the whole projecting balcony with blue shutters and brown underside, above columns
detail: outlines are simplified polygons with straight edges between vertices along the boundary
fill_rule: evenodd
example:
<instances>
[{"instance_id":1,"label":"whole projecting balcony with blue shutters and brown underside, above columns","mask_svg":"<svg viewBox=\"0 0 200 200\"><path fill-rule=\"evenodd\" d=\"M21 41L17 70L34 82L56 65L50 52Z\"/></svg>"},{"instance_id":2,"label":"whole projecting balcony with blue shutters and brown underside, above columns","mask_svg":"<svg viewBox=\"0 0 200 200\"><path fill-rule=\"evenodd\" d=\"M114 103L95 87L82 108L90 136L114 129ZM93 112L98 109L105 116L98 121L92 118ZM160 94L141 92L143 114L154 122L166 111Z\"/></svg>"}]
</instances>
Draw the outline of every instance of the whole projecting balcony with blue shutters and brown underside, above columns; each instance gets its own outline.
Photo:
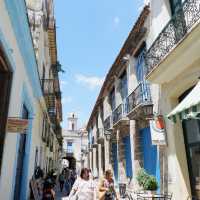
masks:
<instances>
[{"instance_id":1,"label":"whole projecting balcony with blue shutters and brown underside, above columns","mask_svg":"<svg viewBox=\"0 0 200 200\"><path fill-rule=\"evenodd\" d=\"M153 116L153 104L150 87L147 82L141 82L127 98L127 116L130 119L146 119Z\"/></svg>"}]
</instances>

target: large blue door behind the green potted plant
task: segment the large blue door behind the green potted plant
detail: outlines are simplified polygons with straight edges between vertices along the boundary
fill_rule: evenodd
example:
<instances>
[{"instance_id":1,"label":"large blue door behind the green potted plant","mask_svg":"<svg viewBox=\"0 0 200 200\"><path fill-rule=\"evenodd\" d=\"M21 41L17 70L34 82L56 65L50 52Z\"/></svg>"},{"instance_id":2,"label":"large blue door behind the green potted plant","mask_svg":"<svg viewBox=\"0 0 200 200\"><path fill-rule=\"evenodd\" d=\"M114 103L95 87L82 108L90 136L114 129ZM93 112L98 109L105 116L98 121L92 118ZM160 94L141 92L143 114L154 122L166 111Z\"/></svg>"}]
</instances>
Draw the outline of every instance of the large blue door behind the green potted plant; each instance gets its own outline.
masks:
<instances>
[{"instance_id":1,"label":"large blue door behind the green potted plant","mask_svg":"<svg viewBox=\"0 0 200 200\"><path fill-rule=\"evenodd\" d=\"M160 163L157 147L151 144L150 128L140 130L141 146L143 150L144 169L148 174L156 177L160 185Z\"/></svg>"}]
</instances>

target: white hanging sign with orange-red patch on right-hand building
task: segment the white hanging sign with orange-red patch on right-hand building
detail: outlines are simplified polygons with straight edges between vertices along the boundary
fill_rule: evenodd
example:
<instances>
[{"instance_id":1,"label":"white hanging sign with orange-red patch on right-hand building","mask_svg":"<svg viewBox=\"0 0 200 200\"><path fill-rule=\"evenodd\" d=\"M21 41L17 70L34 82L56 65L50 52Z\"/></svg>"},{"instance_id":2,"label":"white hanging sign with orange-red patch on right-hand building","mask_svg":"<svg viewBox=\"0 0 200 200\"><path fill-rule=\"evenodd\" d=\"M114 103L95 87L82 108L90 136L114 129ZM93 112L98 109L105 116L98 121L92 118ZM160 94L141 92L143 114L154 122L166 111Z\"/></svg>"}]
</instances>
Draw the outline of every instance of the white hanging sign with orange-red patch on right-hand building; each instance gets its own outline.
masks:
<instances>
[{"instance_id":1,"label":"white hanging sign with orange-red patch on right-hand building","mask_svg":"<svg viewBox=\"0 0 200 200\"><path fill-rule=\"evenodd\" d=\"M162 116L150 120L152 145L166 145L165 123Z\"/></svg>"}]
</instances>

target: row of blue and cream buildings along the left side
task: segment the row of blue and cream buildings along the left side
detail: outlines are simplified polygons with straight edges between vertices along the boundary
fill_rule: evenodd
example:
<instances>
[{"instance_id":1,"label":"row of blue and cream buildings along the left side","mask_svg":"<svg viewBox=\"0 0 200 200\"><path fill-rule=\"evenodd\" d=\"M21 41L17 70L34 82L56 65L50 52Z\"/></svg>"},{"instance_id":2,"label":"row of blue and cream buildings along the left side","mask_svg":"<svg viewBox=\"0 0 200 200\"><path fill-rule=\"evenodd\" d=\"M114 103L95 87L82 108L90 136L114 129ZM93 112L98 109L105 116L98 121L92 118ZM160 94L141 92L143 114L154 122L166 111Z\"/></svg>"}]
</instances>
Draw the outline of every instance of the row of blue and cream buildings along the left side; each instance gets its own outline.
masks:
<instances>
[{"instance_id":1,"label":"row of blue and cream buildings along the left side","mask_svg":"<svg viewBox=\"0 0 200 200\"><path fill-rule=\"evenodd\" d=\"M0 12L0 196L25 200L35 168L56 169L62 147L53 2L3 0ZM28 120L25 132L9 132L11 118Z\"/></svg>"}]
</instances>

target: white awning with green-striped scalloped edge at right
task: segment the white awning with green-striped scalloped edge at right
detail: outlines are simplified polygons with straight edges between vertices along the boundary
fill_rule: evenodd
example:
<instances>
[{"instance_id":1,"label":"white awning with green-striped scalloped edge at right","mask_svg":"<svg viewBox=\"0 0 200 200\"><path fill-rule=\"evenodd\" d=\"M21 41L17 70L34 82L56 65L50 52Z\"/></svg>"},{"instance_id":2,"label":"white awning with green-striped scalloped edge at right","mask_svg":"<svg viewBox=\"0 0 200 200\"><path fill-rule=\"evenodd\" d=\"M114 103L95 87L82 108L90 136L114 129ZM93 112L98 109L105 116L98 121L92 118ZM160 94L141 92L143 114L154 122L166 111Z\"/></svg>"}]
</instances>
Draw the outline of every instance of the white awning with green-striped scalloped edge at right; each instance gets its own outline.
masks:
<instances>
[{"instance_id":1,"label":"white awning with green-striped scalloped edge at right","mask_svg":"<svg viewBox=\"0 0 200 200\"><path fill-rule=\"evenodd\" d=\"M177 119L191 119L197 118L200 113L200 81L192 89L192 91L179 103L172 112L167 116L174 122Z\"/></svg>"}]
</instances>

